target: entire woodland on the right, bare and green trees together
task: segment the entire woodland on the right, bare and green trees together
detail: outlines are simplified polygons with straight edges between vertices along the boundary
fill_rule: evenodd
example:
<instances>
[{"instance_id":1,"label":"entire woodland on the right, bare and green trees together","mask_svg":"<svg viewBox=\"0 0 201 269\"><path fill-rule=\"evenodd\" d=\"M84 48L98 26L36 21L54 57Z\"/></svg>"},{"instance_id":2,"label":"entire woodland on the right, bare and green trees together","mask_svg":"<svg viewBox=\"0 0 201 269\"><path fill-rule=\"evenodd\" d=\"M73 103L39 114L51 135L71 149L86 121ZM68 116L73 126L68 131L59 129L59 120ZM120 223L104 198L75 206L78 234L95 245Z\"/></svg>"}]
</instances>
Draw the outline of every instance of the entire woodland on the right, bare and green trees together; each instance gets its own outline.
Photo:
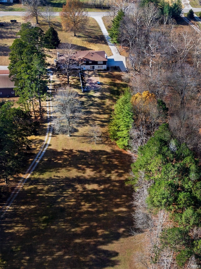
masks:
<instances>
[{"instance_id":1,"label":"entire woodland on the right, bare and green trees together","mask_svg":"<svg viewBox=\"0 0 201 269\"><path fill-rule=\"evenodd\" d=\"M132 233L143 232L145 241L135 262L148 269L198 268L201 35L188 26L181 31L174 5L143 5L133 14L120 10L112 24L118 29L112 39L129 55L122 75L129 88L115 104L109 133L137 156L128 181L135 190Z\"/></svg>"}]
</instances>

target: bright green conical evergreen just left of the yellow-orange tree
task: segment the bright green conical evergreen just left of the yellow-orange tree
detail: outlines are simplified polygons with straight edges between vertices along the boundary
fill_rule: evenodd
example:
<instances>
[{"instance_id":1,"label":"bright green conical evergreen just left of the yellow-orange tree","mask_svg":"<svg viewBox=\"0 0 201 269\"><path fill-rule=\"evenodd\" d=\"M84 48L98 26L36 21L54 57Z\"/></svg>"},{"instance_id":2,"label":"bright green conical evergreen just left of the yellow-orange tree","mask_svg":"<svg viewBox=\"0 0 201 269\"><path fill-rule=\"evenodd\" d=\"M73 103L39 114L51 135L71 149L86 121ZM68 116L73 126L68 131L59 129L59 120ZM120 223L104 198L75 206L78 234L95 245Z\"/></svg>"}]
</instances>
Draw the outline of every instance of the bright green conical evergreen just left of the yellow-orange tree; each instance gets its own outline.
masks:
<instances>
[{"instance_id":1,"label":"bright green conical evergreen just left of the yellow-orange tree","mask_svg":"<svg viewBox=\"0 0 201 269\"><path fill-rule=\"evenodd\" d=\"M117 100L109 123L110 137L116 140L119 148L127 148L129 132L133 122L133 109L131 105L131 94L126 89L124 94Z\"/></svg>"}]
</instances>

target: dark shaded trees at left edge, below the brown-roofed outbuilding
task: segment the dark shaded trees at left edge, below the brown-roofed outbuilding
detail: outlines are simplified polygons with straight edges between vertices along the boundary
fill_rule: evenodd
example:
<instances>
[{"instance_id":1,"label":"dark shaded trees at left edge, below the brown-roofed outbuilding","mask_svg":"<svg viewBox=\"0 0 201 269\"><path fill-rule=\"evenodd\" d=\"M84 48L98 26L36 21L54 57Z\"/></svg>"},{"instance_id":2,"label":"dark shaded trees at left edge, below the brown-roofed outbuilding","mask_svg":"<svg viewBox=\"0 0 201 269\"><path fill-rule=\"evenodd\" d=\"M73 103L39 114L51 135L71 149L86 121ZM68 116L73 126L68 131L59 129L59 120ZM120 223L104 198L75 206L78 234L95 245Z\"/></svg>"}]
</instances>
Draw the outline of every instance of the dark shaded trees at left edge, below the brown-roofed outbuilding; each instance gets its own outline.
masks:
<instances>
[{"instance_id":1,"label":"dark shaded trees at left edge, below the brown-roofed outbuilding","mask_svg":"<svg viewBox=\"0 0 201 269\"><path fill-rule=\"evenodd\" d=\"M25 165L28 136L36 133L38 122L30 120L28 112L0 103L0 177L8 179L21 172Z\"/></svg>"}]
</instances>

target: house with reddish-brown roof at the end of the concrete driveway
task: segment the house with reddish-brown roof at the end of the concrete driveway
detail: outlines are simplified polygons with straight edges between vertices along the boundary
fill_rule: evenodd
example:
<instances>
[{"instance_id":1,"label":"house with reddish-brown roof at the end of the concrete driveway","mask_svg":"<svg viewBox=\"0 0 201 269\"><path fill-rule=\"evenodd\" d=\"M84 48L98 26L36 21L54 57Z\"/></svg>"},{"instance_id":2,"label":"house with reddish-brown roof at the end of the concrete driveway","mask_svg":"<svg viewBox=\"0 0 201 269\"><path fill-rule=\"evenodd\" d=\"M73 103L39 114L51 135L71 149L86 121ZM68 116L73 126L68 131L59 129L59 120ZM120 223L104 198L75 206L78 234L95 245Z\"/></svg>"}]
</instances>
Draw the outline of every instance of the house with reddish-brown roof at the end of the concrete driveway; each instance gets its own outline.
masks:
<instances>
[{"instance_id":1,"label":"house with reddish-brown roof at the end of the concrete driveway","mask_svg":"<svg viewBox=\"0 0 201 269\"><path fill-rule=\"evenodd\" d=\"M62 68L62 62L65 63L65 55L57 53L57 63ZM105 51L77 51L73 54L71 60L71 69L82 70L106 70L107 54Z\"/></svg>"}]
</instances>

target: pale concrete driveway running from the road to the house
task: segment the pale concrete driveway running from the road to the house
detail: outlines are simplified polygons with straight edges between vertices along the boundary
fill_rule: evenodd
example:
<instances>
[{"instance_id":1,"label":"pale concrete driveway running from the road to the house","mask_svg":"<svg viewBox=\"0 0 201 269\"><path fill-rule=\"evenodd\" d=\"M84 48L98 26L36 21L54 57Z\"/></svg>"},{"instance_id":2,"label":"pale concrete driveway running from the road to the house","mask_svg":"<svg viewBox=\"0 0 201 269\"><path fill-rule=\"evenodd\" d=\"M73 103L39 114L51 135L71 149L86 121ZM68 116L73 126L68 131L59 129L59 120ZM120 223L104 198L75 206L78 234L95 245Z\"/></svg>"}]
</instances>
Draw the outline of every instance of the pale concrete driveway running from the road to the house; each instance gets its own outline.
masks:
<instances>
[{"instance_id":1,"label":"pale concrete driveway running from the road to the house","mask_svg":"<svg viewBox=\"0 0 201 269\"><path fill-rule=\"evenodd\" d=\"M117 47L113 43L111 43L111 39L108 35L108 32L102 20L102 16L100 15L91 17L94 18L97 21L98 25L100 26L100 29L103 35L105 36L108 46L110 47L111 52L113 54L112 56L108 57L108 66L109 67L118 66L121 69L121 71L126 71L127 70L126 57L121 56L119 51L117 50Z\"/></svg>"}]
</instances>

